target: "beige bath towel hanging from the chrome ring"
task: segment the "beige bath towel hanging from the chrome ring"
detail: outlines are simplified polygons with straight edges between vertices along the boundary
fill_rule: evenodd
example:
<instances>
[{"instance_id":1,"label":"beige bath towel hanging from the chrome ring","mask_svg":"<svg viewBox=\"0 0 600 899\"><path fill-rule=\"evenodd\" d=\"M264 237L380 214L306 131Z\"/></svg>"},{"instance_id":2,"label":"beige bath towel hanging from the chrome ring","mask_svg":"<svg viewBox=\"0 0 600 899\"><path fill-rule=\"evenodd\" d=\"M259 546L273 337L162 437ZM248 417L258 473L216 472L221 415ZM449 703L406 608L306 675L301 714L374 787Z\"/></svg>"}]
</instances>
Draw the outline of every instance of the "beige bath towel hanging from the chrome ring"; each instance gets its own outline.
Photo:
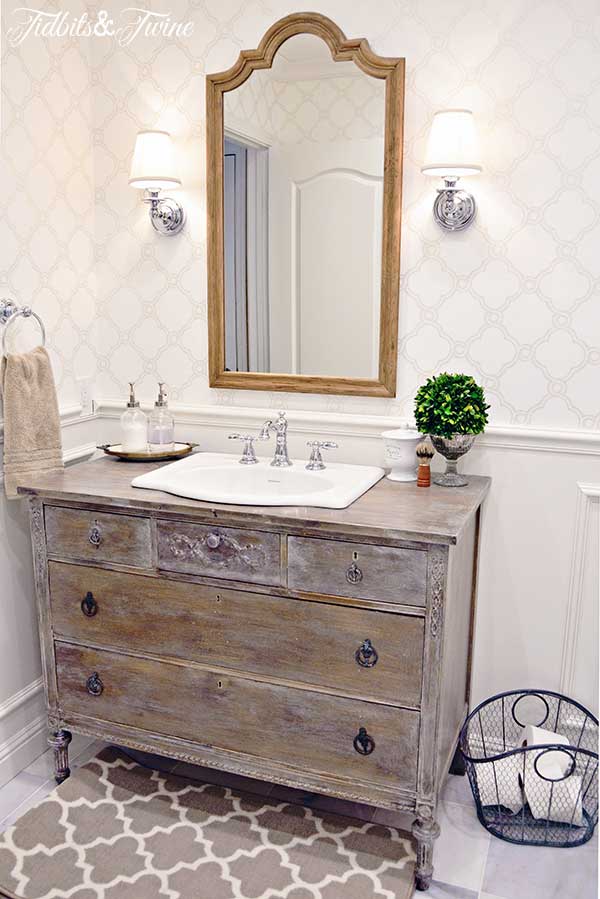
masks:
<instances>
[{"instance_id":1,"label":"beige bath towel hanging from the chrome ring","mask_svg":"<svg viewBox=\"0 0 600 899\"><path fill-rule=\"evenodd\" d=\"M48 353L5 356L0 373L4 403L4 487L11 499L28 476L63 468L60 417Z\"/></svg>"}]
</instances>

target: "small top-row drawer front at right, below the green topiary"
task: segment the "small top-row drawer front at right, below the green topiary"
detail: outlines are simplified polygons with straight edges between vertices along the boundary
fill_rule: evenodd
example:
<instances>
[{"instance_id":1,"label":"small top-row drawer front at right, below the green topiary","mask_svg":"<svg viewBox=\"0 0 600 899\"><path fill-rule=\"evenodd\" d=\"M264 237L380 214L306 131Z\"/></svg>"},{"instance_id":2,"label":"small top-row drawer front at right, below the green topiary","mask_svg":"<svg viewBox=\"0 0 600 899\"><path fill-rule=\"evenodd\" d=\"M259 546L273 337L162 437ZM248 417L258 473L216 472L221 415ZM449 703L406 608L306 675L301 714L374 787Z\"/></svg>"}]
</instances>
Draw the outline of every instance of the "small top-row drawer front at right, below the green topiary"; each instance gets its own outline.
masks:
<instances>
[{"instance_id":1,"label":"small top-row drawer front at right, below the green topiary","mask_svg":"<svg viewBox=\"0 0 600 899\"><path fill-rule=\"evenodd\" d=\"M304 593L424 606L427 553L416 549L289 537L288 585Z\"/></svg>"}]
</instances>

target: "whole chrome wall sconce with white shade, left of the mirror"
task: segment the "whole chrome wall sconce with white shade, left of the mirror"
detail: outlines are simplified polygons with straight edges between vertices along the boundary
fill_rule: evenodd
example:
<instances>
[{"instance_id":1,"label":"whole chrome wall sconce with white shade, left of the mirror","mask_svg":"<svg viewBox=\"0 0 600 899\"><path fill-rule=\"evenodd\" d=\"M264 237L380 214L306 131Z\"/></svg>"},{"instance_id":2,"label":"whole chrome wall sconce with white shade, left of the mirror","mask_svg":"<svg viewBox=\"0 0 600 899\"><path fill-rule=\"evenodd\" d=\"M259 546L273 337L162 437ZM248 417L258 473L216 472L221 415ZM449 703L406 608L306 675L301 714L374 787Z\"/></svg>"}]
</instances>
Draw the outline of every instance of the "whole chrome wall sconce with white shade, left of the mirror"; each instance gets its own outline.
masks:
<instances>
[{"instance_id":1,"label":"whole chrome wall sconce with white shade, left of the mirror","mask_svg":"<svg viewBox=\"0 0 600 899\"><path fill-rule=\"evenodd\" d=\"M160 197L161 190L181 187L175 164L171 135L167 131L140 131L135 142L130 187L146 192L150 221L159 234L179 234L185 224L185 211L176 200Z\"/></svg>"}]
</instances>

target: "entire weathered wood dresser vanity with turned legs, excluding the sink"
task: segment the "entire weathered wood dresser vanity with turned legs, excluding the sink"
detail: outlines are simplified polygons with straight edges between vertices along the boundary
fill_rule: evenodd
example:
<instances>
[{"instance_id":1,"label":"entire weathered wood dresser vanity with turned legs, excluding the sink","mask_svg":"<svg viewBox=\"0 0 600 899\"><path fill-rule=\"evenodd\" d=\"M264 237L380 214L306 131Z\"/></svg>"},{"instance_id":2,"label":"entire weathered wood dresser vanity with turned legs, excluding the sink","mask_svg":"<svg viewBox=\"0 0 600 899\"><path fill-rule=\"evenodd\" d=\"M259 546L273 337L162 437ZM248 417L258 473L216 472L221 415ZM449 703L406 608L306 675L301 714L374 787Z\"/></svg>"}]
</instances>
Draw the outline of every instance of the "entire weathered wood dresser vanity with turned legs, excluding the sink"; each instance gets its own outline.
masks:
<instances>
[{"instance_id":1,"label":"entire weathered wood dresser vanity with turned legs, excluding the sink","mask_svg":"<svg viewBox=\"0 0 600 899\"><path fill-rule=\"evenodd\" d=\"M255 508L130 486L154 467L102 459L22 489L57 780L75 730L412 811L425 889L488 479Z\"/></svg>"}]
</instances>

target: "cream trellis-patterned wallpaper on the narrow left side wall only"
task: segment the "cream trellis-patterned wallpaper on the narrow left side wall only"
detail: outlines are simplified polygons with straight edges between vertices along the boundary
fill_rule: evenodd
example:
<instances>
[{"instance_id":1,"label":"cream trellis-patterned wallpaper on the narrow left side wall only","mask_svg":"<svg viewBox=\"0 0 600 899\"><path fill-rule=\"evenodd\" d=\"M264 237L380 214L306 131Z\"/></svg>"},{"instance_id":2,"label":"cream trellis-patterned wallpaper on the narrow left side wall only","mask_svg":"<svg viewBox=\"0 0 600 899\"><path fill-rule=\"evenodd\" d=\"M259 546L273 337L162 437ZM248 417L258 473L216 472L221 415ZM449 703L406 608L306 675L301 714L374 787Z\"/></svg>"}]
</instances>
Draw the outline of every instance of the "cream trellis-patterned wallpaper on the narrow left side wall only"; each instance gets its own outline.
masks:
<instances>
[{"instance_id":1,"label":"cream trellis-patterned wallpaper on the narrow left side wall only","mask_svg":"<svg viewBox=\"0 0 600 899\"><path fill-rule=\"evenodd\" d=\"M22 5L2 3L0 297L42 316L61 404L73 405L76 378L95 377L97 355L92 48L41 37L9 46L13 11ZM84 7L69 8L76 15ZM12 326L8 342L21 349L37 339L27 322Z\"/></svg>"}]
</instances>

